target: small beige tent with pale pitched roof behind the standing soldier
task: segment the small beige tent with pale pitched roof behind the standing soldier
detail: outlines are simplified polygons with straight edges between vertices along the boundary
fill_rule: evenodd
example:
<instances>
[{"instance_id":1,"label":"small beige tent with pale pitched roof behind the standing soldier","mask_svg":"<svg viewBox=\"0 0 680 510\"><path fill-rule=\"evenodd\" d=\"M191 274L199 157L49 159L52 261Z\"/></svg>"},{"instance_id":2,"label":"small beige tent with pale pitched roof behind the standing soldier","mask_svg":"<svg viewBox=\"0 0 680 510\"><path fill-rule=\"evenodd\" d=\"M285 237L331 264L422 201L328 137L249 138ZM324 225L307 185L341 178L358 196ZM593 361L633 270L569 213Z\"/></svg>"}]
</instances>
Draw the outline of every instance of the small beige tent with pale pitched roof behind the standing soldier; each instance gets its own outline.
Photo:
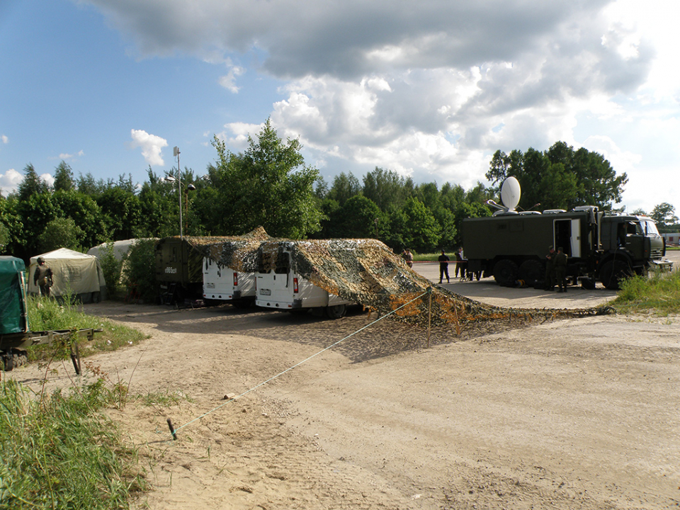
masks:
<instances>
[{"instance_id":1,"label":"small beige tent with pale pitched roof behind the standing soldier","mask_svg":"<svg viewBox=\"0 0 680 510\"><path fill-rule=\"evenodd\" d=\"M40 288L33 283L38 257L45 259L52 273L54 285L50 295L74 295L84 303L106 299L106 281L101 271L99 259L93 255L81 254L68 248L60 248L49 253L30 258L28 270L28 292L40 294Z\"/></svg>"}]
</instances>

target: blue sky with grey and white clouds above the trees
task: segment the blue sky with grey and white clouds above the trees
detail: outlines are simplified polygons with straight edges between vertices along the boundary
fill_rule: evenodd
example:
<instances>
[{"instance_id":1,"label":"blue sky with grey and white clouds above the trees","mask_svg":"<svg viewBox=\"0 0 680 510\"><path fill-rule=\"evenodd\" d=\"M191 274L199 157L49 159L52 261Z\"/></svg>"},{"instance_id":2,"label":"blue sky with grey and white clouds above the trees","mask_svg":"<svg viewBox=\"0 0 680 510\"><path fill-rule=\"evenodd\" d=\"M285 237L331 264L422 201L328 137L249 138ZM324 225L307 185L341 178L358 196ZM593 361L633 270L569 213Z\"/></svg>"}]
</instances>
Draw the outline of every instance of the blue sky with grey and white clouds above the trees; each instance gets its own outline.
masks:
<instances>
[{"instance_id":1,"label":"blue sky with grey and white clouds above the trees","mask_svg":"<svg viewBox=\"0 0 680 510\"><path fill-rule=\"evenodd\" d=\"M680 212L674 0L2 0L0 188L206 173L267 118L329 183L376 166L465 189L557 141ZM520 203L520 205L523 205Z\"/></svg>"}]
</instances>

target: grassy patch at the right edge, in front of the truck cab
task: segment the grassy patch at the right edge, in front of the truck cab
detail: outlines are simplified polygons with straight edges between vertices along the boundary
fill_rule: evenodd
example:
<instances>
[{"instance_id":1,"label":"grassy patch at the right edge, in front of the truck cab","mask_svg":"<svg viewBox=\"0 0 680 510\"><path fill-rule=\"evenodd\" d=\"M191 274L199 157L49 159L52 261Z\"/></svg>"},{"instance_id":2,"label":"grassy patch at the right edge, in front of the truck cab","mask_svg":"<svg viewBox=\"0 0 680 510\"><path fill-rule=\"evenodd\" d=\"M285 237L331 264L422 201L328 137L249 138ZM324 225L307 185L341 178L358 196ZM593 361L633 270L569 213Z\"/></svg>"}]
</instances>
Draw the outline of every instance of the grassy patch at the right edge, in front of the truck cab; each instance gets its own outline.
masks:
<instances>
[{"instance_id":1,"label":"grassy patch at the right edge, in front of the truck cab","mask_svg":"<svg viewBox=\"0 0 680 510\"><path fill-rule=\"evenodd\" d=\"M621 282L611 305L620 313L650 312L666 316L680 312L680 271L655 271Z\"/></svg>"}]
</instances>

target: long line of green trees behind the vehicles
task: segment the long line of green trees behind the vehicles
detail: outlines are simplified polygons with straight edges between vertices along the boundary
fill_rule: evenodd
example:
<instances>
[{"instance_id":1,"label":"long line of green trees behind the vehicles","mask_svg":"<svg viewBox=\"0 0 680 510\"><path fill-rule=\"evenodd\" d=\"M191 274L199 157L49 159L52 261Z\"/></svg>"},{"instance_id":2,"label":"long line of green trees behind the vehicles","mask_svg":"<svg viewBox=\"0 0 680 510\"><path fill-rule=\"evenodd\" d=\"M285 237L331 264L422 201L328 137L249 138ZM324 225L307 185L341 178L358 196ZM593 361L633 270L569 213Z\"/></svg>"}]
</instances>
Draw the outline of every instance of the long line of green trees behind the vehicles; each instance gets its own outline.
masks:
<instances>
[{"instance_id":1,"label":"long line of green trees behind the vehicles","mask_svg":"<svg viewBox=\"0 0 680 510\"><path fill-rule=\"evenodd\" d=\"M239 235L261 225L273 237L372 237L395 251L452 251L461 244L460 222L491 215L486 202L497 199L507 176L521 183L521 205L540 203L539 209L608 210L628 181L601 155L564 142L546 152L497 152L486 175L492 186L469 190L416 184L379 167L361 180L341 173L327 183L305 164L299 140L282 140L269 120L244 152L229 152L217 137L213 146L217 157L207 174L181 172L181 199L177 181L168 180L177 179L176 168L158 175L149 167L138 185L131 176L76 178L61 162L48 186L28 164L18 190L0 196L0 252L28 260L60 247L86 251L102 242L178 235L179 200L183 233L190 236ZM665 212L672 220L672 206Z\"/></svg>"}]
</instances>

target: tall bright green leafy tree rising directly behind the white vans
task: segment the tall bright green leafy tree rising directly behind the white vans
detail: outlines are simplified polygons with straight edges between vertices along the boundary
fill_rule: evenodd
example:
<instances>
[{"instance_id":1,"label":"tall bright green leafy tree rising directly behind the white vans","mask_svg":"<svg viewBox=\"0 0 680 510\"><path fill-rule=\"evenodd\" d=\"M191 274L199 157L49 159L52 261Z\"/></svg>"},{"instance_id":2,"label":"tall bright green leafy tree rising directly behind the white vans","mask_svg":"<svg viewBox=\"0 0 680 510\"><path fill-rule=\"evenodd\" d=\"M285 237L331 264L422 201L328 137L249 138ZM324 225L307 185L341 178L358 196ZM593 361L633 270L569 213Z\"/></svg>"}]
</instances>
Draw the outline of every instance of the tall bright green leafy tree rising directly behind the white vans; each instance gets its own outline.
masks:
<instances>
[{"instance_id":1,"label":"tall bright green leafy tree rising directly behind the white vans","mask_svg":"<svg viewBox=\"0 0 680 510\"><path fill-rule=\"evenodd\" d=\"M222 231L243 234L262 226L271 235L298 239L321 226L314 196L319 171L305 165L300 140L283 142L267 119L243 154L227 152L215 137L217 164L210 179L219 183Z\"/></svg>"}]
</instances>

